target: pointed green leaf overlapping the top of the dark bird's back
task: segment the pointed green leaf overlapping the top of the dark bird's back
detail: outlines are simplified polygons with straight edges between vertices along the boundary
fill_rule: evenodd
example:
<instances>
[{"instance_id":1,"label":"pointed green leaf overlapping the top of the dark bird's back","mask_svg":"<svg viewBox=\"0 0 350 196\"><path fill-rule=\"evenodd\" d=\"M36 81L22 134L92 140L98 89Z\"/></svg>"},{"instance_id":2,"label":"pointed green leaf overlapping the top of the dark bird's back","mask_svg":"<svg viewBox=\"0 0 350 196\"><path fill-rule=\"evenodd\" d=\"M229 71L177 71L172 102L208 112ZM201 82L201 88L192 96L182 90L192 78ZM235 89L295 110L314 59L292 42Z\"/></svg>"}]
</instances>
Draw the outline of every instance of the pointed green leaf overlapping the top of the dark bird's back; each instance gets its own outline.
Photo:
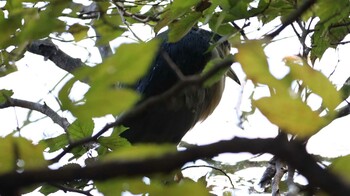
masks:
<instances>
[{"instance_id":1,"label":"pointed green leaf overlapping the top of the dark bird's back","mask_svg":"<svg viewBox=\"0 0 350 196\"><path fill-rule=\"evenodd\" d=\"M200 12L192 12L169 25L168 41L177 42L183 38L202 16Z\"/></svg>"}]
</instances>

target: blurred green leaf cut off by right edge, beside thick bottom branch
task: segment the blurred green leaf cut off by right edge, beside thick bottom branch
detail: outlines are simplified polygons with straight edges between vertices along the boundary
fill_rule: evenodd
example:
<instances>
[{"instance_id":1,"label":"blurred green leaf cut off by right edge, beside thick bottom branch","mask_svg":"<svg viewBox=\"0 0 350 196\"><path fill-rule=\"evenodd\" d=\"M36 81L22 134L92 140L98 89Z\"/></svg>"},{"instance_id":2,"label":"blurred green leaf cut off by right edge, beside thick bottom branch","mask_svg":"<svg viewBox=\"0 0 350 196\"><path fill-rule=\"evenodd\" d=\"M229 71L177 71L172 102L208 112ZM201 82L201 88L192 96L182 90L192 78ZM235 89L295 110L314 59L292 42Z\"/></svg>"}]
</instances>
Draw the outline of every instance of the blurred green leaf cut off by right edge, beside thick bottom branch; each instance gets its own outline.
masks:
<instances>
[{"instance_id":1,"label":"blurred green leaf cut off by right edge, beside thick bottom branch","mask_svg":"<svg viewBox=\"0 0 350 196\"><path fill-rule=\"evenodd\" d=\"M329 169L350 184L350 155L336 158Z\"/></svg>"}]
</instances>

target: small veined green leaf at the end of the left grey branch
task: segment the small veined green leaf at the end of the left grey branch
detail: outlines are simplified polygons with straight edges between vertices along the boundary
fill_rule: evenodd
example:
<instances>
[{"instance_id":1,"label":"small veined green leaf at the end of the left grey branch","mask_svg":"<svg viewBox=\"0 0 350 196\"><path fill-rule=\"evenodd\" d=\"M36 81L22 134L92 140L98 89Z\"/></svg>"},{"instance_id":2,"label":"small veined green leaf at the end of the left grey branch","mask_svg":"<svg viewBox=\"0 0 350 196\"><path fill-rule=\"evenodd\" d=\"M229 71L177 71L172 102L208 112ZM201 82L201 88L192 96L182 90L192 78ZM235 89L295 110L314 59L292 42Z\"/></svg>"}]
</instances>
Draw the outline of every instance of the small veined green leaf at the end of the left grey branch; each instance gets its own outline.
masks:
<instances>
[{"instance_id":1,"label":"small veined green leaf at the end of the left grey branch","mask_svg":"<svg viewBox=\"0 0 350 196\"><path fill-rule=\"evenodd\" d=\"M68 136L72 141L77 141L91 137L93 130L94 122L92 119L77 119L68 127Z\"/></svg>"}]
</instances>

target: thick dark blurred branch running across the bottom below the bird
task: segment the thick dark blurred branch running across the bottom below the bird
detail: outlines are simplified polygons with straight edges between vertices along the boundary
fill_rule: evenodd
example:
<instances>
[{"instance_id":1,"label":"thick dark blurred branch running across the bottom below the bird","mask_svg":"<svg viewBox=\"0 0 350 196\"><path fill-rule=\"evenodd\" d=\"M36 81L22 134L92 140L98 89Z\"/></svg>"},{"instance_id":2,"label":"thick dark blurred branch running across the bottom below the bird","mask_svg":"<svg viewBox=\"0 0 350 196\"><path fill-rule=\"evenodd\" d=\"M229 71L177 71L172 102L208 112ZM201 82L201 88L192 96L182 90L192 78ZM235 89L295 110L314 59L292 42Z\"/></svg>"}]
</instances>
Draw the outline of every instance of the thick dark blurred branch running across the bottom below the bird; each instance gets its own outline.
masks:
<instances>
[{"instance_id":1,"label":"thick dark blurred branch running across the bottom below the bird","mask_svg":"<svg viewBox=\"0 0 350 196\"><path fill-rule=\"evenodd\" d=\"M187 162L214 157L220 153L250 152L271 153L295 167L304 175L310 186L320 187L329 195L350 195L350 187L327 169L321 168L299 142L280 139L234 138L205 146L196 146L185 151L145 160L116 160L84 168L58 170L25 170L0 176L0 190L18 189L35 183L55 183L73 179L106 180L113 177L131 177L167 173ZM166 163L166 164L164 164Z\"/></svg>"}]
</instances>

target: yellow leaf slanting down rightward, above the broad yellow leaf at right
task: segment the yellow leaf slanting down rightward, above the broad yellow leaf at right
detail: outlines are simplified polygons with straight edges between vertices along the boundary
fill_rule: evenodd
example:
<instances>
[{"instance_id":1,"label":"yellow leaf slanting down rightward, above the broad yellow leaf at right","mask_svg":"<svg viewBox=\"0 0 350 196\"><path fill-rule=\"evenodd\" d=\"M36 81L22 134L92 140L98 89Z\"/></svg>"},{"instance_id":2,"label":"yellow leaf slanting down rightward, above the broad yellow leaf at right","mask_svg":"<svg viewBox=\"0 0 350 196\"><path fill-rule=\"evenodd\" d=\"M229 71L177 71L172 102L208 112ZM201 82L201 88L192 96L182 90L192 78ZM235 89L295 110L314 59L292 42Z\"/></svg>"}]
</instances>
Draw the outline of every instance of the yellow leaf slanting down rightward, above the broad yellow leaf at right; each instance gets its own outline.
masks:
<instances>
[{"instance_id":1,"label":"yellow leaf slanting down rightward, above the broad yellow leaf at right","mask_svg":"<svg viewBox=\"0 0 350 196\"><path fill-rule=\"evenodd\" d=\"M340 93L320 71L312 69L303 59L296 56L286 57L284 61L290 67L292 77L301 80L303 86L318 94L330 112L341 103Z\"/></svg>"}]
</instances>

